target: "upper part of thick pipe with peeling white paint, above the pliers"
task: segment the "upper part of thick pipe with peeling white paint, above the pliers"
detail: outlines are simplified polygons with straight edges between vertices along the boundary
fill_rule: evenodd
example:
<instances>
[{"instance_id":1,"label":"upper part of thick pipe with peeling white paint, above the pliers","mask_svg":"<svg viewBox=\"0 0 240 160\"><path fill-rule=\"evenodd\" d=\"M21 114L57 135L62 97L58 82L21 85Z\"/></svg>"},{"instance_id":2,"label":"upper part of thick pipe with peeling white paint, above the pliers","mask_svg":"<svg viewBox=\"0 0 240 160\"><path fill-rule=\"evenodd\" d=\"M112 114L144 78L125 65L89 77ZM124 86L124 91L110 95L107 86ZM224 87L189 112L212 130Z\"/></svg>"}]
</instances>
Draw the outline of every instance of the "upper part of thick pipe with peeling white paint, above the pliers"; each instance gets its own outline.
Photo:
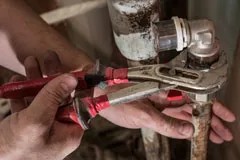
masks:
<instances>
[{"instance_id":1,"label":"upper part of thick pipe with peeling white paint, above the pliers","mask_svg":"<svg viewBox=\"0 0 240 160\"><path fill-rule=\"evenodd\" d=\"M152 22L159 21L159 0L108 0L115 42L127 59L142 61L158 55Z\"/></svg>"}]
</instances>

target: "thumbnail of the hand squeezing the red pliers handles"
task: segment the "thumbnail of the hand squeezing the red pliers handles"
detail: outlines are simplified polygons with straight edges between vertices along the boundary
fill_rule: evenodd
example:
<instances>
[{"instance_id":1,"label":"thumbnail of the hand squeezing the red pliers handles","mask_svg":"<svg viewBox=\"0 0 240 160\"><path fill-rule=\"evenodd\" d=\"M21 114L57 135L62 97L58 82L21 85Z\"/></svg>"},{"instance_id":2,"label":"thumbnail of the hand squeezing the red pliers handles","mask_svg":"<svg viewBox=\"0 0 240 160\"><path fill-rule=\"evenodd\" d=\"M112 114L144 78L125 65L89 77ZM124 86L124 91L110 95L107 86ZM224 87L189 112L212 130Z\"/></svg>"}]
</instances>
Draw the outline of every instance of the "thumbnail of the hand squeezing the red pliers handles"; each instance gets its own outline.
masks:
<instances>
[{"instance_id":1,"label":"thumbnail of the hand squeezing the red pliers handles","mask_svg":"<svg viewBox=\"0 0 240 160\"><path fill-rule=\"evenodd\" d=\"M63 75L65 76L64 79L61 82L61 87L66 92L72 92L77 87L77 79L69 74Z\"/></svg>"}]
</instances>

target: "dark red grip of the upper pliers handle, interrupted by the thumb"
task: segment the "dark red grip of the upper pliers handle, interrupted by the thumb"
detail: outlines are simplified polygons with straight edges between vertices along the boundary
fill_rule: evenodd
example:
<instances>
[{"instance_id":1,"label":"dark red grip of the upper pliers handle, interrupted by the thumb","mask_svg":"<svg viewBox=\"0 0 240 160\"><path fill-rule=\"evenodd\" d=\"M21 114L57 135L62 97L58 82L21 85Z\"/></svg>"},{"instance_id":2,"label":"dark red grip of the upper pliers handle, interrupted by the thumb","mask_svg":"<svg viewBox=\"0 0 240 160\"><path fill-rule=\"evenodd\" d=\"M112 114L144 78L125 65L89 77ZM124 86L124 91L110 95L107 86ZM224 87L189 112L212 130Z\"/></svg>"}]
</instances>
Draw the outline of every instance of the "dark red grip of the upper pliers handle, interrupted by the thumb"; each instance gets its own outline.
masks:
<instances>
[{"instance_id":1,"label":"dark red grip of the upper pliers handle, interrupted by the thumb","mask_svg":"<svg viewBox=\"0 0 240 160\"><path fill-rule=\"evenodd\" d=\"M85 73L72 73L78 79L78 89L87 89L86 81L84 80ZM57 76L47 78L6 83L0 86L0 98L18 99L29 96L36 96L37 93L51 80Z\"/></svg>"}]
</instances>

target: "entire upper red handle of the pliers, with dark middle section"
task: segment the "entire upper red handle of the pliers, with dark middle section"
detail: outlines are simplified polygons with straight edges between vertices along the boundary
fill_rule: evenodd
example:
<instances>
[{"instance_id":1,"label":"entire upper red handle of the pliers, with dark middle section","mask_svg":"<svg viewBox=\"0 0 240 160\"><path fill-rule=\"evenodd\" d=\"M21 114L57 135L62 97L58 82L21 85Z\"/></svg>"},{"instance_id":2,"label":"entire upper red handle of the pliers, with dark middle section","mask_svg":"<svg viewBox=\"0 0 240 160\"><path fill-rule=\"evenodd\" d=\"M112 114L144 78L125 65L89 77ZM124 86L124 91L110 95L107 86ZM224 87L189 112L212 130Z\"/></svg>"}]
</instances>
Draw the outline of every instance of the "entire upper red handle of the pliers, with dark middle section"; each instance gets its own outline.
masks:
<instances>
[{"instance_id":1,"label":"entire upper red handle of the pliers, with dark middle section","mask_svg":"<svg viewBox=\"0 0 240 160\"><path fill-rule=\"evenodd\" d=\"M72 74L78 79L77 89L85 90L96 86L102 81L109 81L109 83L113 84L115 79L126 79L127 69L106 68L101 75L87 75L84 72L72 72ZM0 98L19 99L36 96L48 82L56 77L51 76L23 82L6 83L0 86ZM121 82L123 81L117 81L116 83Z\"/></svg>"}]
</instances>

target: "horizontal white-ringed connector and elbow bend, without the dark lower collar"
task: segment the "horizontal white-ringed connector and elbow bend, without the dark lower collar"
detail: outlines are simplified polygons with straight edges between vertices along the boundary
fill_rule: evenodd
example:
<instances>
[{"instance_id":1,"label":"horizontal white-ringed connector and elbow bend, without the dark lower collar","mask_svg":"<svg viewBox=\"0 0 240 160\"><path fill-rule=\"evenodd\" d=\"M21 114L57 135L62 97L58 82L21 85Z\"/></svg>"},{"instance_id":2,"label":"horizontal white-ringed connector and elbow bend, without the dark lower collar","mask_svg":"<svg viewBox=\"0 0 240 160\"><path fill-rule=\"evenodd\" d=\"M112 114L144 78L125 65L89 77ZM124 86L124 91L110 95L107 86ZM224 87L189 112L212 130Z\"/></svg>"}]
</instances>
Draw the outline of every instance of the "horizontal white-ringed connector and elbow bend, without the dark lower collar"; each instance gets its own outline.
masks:
<instances>
[{"instance_id":1,"label":"horizontal white-ringed connector and elbow bend, without the dark lower collar","mask_svg":"<svg viewBox=\"0 0 240 160\"><path fill-rule=\"evenodd\" d=\"M155 48L158 51L176 49L182 51L197 45L198 48L211 48L215 43L215 26L209 20L191 20L173 17L153 25L156 35Z\"/></svg>"}]
</instances>

